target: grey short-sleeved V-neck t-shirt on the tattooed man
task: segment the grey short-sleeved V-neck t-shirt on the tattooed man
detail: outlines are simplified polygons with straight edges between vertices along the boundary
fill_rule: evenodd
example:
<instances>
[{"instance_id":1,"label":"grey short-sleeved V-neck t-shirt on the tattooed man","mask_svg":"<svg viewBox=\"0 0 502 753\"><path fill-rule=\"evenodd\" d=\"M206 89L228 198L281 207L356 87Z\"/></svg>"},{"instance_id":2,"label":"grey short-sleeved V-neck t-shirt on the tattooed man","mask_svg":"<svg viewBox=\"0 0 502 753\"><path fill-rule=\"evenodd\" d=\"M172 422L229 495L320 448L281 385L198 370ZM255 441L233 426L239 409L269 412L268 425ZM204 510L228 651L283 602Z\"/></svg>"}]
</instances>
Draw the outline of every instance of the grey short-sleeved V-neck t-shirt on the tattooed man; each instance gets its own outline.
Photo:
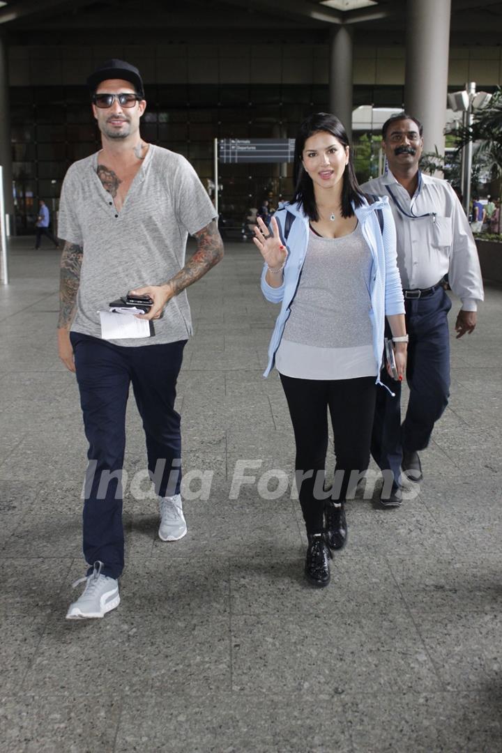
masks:
<instances>
[{"instance_id":1,"label":"grey short-sleeved V-neck t-shirt on the tattooed man","mask_svg":"<svg viewBox=\"0 0 502 753\"><path fill-rule=\"evenodd\" d=\"M60 238L84 248L77 312L71 331L101 337L98 311L129 290L161 285L185 264L188 234L216 218L190 163L153 144L120 212L96 173L98 153L75 162L62 184ZM186 291L173 297L153 337L111 340L121 346L157 345L192 334Z\"/></svg>"}]
</instances>

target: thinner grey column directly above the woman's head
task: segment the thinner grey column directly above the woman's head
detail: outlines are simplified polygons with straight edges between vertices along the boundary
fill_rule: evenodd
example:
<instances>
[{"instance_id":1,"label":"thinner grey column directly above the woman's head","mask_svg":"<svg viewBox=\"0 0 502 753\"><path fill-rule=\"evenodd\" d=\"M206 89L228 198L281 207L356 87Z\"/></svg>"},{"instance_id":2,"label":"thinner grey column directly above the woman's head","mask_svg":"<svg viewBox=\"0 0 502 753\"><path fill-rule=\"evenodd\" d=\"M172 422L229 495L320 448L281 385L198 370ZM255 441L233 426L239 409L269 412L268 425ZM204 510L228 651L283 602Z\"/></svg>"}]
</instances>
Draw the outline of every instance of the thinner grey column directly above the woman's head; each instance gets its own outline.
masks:
<instances>
[{"instance_id":1,"label":"thinner grey column directly above the woman's head","mask_svg":"<svg viewBox=\"0 0 502 753\"><path fill-rule=\"evenodd\" d=\"M335 26L330 33L330 112L339 117L352 139L352 26Z\"/></svg>"}]
</instances>

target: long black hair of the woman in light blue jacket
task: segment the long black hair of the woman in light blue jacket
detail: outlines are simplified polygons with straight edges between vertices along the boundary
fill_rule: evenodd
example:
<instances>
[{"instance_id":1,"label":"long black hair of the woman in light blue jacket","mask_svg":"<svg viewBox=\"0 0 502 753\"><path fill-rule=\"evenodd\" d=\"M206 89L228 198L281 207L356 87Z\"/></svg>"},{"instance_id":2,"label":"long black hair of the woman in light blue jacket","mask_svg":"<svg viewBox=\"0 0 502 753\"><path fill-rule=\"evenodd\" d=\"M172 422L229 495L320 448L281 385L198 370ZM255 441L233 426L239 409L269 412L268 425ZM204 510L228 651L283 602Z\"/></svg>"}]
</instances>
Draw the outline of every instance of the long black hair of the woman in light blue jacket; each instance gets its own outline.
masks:
<instances>
[{"instance_id":1,"label":"long black hair of the woman in light blue jacket","mask_svg":"<svg viewBox=\"0 0 502 753\"><path fill-rule=\"evenodd\" d=\"M310 220L317 222L319 212L315 203L314 185L312 178L303 167L302 157L305 142L314 133L325 131L331 133L343 147L350 146L348 143L347 133L342 122L329 112L316 112L309 115L300 125L297 133L297 139L294 143L294 197L293 201L303 206L303 211ZM351 150L348 152L348 163L343 173L342 184L342 217L352 217L354 215L354 206L361 206L364 203L364 194L357 183L355 177L354 165L352 164Z\"/></svg>"}]
</instances>

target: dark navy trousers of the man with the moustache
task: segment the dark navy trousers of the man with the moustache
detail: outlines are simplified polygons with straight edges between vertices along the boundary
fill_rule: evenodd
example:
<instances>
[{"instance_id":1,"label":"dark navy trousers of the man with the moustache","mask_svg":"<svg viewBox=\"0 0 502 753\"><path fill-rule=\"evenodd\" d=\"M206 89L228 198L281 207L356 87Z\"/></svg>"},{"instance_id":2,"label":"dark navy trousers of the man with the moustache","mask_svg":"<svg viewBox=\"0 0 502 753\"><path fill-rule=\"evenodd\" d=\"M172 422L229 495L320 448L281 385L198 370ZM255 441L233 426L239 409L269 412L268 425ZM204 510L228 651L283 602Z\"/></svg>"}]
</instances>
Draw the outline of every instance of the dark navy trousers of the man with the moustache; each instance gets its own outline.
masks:
<instances>
[{"instance_id":1,"label":"dark navy trousers of the man with the moustache","mask_svg":"<svg viewBox=\"0 0 502 753\"><path fill-rule=\"evenodd\" d=\"M382 471L391 469L400 478L403 450L424 450L434 423L443 414L449 398L450 357L448 312L452 302L443 288L431 296L405 299L406 331L409 334L406 381L409 403L401 424L401 385L382 370L382 382L396 393L393 398L380 388L376 396L371 454ZM391 337L387 325L386 336Z\"/></svg>"}]
</instances>

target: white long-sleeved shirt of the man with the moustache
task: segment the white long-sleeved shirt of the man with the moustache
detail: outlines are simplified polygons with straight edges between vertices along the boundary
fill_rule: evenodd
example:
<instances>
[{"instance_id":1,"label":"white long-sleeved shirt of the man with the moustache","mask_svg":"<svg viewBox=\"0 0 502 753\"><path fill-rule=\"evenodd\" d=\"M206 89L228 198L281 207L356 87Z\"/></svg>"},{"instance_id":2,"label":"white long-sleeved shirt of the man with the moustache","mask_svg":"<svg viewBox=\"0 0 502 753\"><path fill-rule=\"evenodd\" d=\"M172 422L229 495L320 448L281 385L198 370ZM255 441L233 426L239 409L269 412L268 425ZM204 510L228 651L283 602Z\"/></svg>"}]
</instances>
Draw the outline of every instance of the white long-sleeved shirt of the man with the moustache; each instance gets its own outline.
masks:
<instances>
[{"instance_id":1,"label":"white long-sleeved shirt of the man with the moustache","mask_svg":"<svg viewBox=\"0 0 502 753\"><path fill-rule=\"evenodd\" d=\"M389 171L361 187L367 194L389 197L403 288L431 288L448 273L462 309L476 311L477 301L484 298L478 252L464 209L450 184L418 172L418 186L410 197ZM412 219L405 212L427 216Z\"/></svg>"}]
</instances>

